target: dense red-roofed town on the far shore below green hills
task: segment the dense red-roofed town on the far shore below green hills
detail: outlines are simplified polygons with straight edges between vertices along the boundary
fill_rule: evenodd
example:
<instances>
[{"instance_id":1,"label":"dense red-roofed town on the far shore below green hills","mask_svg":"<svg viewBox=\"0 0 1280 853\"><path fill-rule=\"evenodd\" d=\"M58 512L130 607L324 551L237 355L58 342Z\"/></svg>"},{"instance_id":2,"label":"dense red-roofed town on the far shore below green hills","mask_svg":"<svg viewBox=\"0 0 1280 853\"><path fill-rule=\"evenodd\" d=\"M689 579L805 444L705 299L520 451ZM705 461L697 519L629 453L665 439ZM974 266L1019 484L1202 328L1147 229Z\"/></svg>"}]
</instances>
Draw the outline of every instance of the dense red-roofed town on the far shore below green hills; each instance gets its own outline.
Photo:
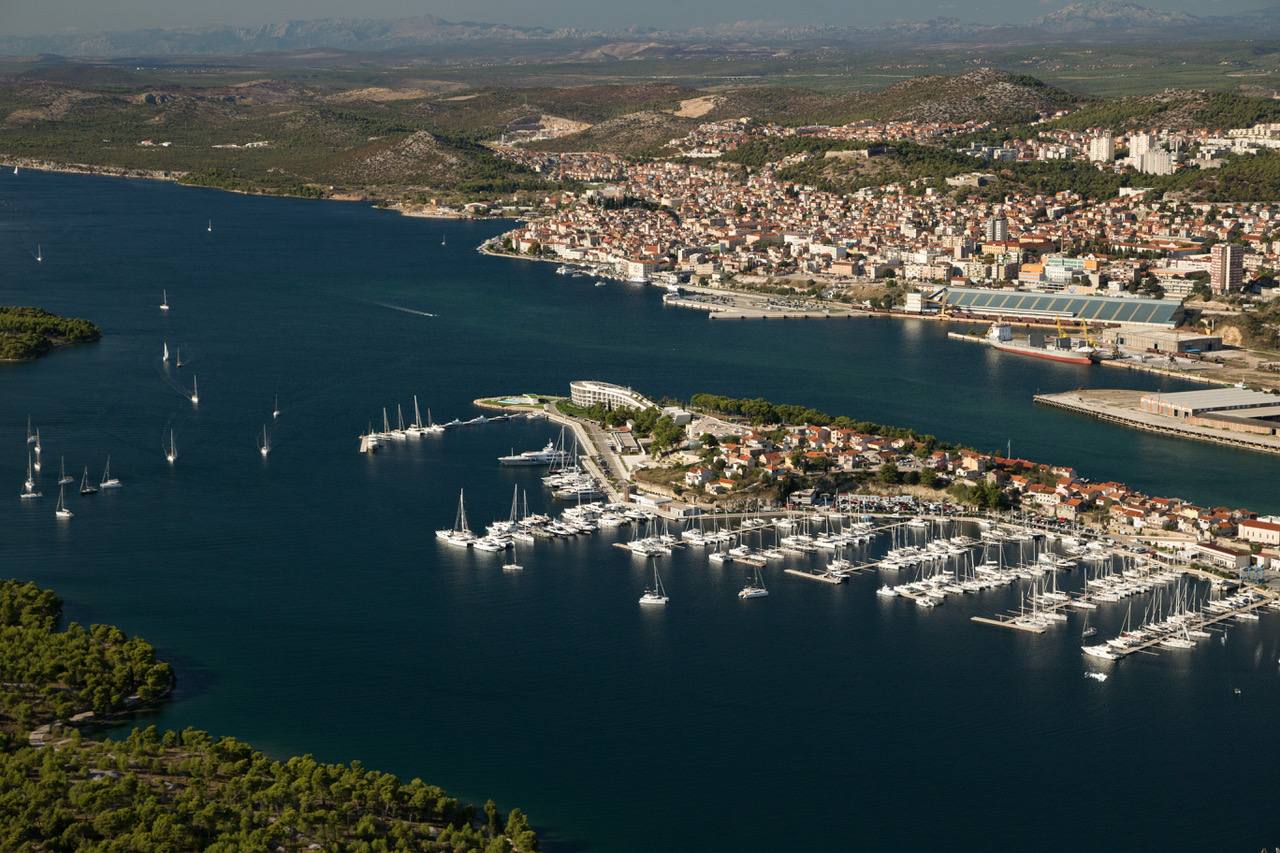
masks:
<instances>
[{"instance_id":1,"label":"dense red-roofed town on the far shore below green hills","mask_svg":"<svg viewBox=\"0 0 1280 853\"><path fill-rule=\"evenodd\" d=\"M998 147L961 150L974 159L969 174L849 193L785 177L806 160L872 161L895 143L975 129L980 126L910 122L781 128L742 119L704 126L672 140L663 158L640 163L497 147L548 181L591 184L545 197L554 213L527 220L504 240L511 251L588 264L628 280L800 279L822 284L831 298L858 282L884 279L1181 298L1238 293L1280 261L1274 202L1184 202L1140 186L1146 175L1212 169L1228 152L1280 147L1276 124L1228 132L1043 131ZM773 137L865 147L805 151L754 169L712 161L750 140ZM1073 190L1015 190L998 199L978 192L998 186L1001 163L1034 160L1085 161L1129 174L1135 186L1121 187L1115 199Z\"/></svg>"}]
</instances>

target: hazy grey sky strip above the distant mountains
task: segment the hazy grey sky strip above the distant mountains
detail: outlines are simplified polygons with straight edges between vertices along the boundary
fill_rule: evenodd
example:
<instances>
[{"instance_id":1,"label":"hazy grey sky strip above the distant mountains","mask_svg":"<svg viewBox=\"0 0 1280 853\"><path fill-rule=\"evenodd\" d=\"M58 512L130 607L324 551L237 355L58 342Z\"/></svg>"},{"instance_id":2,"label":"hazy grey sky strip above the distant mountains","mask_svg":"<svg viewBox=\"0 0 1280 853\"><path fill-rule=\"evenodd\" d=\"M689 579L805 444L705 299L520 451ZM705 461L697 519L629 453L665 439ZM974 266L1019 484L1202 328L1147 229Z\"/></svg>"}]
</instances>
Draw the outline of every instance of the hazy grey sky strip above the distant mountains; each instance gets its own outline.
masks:
<instances>
[{"instance_id":1,"label":"hazy grey sky strip above the distant mountains","mask_svg":"<svg viewBox=\"0 0 1280 853\"><path fill-rule=\"evenodd\" d=\"M934 15L974 23L1021 23L1068 5L1066 0L0 0L0 32L50 36L64 32L150 27L248 27L311 18L404 18L434 14L544 27L648 26L673 29L735 20L788 24L876 24ZM1142 3L1197 15L1229 14L1270 5L1267 0L1165 0Z\"/></svg>"}]
</instances>

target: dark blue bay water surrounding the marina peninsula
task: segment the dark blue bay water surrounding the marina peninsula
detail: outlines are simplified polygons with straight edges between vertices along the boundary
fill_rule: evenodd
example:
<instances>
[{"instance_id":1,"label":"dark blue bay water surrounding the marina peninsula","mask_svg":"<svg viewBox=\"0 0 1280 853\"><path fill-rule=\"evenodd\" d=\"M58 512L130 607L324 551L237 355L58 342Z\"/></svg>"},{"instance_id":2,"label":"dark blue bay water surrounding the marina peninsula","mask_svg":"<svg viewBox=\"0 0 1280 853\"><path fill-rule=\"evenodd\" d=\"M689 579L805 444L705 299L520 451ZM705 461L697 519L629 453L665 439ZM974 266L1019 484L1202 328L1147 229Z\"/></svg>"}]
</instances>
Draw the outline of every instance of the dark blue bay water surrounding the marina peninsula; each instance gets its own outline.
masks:
<instances>
[{"instance_id":1,"label":"dark blue bay water surrounding the marina peninsula","mask_svg":"<svg viewBox=\"0 0 1280 853\"><path fill-rule=\"evenodd\" d=\"M1011 441L1015 456L1094 479L1280 511L1280 460L1030 402L1176 383L1018 359L928 323L712 323L652 288L477 256L498 223L32 172L0 174L0 304L105 332L0 365L13 489L0 574L174 661L161 727L493 797L562 850L1280 844L1265 808L1239 808L1270 790L1280 757L1266 725L1275 616L1098 683L1078 617L1042 637L969 621L1015 607L1012 589L925 612L877 598L873 576L828 587L771 567L769 598L742 602L741 569L689 552L662 564L671 605L641 610L648 567L612 535L522 548L518 574L434 538L462 488L474 523L506 517L517 485L548 507L538 471L495 457L554 428L356 452L383 406L408 418L415 393L448 420L480 396L599 378L654 397L804 403L984 450ZM183 368L160 361L164 342ZM28 414L44 501L17 497ZM125 488L73 489L76 517L55 521L60 457L96 480L108 455ZM1108 637L1124 607L1091 622Z\"/></svg>"}]
</instances>

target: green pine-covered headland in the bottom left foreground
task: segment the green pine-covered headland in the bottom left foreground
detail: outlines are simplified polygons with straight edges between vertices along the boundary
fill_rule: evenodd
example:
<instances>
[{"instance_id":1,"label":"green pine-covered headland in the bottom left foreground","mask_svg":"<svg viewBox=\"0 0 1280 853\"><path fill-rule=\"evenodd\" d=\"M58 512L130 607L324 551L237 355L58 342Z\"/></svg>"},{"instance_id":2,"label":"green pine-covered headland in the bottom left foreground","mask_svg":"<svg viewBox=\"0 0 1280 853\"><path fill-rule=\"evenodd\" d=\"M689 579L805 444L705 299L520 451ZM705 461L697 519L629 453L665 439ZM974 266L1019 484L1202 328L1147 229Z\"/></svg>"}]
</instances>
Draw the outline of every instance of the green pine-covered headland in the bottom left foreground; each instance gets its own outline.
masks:
<instances>
[{"instance_id":1,"label":"green pine-covered headland in the bottom left foreground","mask_svg":"<svg viewBox=\"0 0 1280 853\"><path fill-rule=\"evenodd\" d=\"M60 617L52 592L0 580L0 852L538 849L518 808L480 815L358 761L276 761L195 729L91 739L174 672L145 640Z\"/></svg>"}]
</instances>

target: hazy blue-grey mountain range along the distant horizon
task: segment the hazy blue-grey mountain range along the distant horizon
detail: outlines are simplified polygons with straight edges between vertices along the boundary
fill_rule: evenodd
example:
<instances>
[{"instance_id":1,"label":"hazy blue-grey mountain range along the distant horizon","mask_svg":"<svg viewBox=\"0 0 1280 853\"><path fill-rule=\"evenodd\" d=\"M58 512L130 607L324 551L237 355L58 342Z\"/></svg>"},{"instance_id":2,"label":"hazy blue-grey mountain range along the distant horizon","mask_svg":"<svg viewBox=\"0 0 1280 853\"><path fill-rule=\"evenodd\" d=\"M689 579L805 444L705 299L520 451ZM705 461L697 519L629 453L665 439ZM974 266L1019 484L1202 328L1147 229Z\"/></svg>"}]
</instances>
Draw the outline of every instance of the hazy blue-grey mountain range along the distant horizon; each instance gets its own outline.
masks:
<instances>
[{"instance_id":1,"label":"hazy blue-grey mountain range along the distant horizon","mask_svg":"<svg viewBox=\"0 0 1280 853\"><path fill-rule=\"evenodd\" d=\"M768 45L831 44L886 49L941 44L1034 45L1071 40L1128 41L1158 33L1170 40L1226 40L1280 36L1280 6L1235 15L1197 17L1148 9L1132 3L1076 3L1024 26L965 23L956 18L895 20L873 27L787 27L772 22L737 22L692 29L627 27L621 29L512 27L434 15L397 18L324 18L261 27L157 28L59 36L0 36L0 55L33 56L234 56L332 49L348 53L435 53L507 50L539 46L563 59L707 56L742 53Z\"/></svg>"}]
</instances>

